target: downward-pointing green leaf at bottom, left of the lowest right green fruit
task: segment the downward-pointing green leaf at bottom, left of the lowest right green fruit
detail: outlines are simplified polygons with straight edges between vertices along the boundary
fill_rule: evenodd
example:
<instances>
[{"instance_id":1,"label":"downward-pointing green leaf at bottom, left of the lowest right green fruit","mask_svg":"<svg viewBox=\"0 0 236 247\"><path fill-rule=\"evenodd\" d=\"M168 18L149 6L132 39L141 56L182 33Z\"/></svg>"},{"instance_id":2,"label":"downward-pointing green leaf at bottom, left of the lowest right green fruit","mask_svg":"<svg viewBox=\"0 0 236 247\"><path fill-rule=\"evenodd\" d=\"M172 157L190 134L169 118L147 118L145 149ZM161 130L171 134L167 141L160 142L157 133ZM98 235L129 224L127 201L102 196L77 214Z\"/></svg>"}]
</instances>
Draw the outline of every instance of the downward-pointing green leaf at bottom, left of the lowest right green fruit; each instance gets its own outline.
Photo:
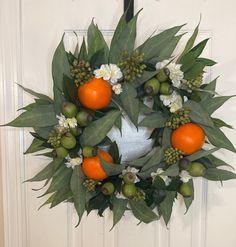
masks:
<instances>
[{"instance_id":1,"label":"downward-pointing green leaf at bottom, left of the lowest right green fruit","mask_svg":"<svg viewBox=\"0 0 236 247\"><path fill-rule=\"evenodd\" d=\"M176 196L175 191L167 191L164 201L160 203L159 209L161 211L161 214L163 216L163 219L164 219L166 225L168 224L168 222L170 220L175 196Z\"/></svg>"}]
</instances>

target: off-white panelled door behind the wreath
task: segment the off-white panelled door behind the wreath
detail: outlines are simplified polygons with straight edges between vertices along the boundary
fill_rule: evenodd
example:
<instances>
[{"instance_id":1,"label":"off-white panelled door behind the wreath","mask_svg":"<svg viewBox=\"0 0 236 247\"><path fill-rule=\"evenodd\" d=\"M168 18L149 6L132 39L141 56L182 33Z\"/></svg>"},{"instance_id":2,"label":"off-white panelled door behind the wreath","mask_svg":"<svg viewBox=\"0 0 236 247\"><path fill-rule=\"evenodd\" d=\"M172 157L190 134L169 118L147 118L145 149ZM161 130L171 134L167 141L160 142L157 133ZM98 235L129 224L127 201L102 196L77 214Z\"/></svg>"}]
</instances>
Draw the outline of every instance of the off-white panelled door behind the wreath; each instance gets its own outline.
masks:
<instances>
[{"instance_id":1,"label":"off-white panelled door behind the wreath","mask_svg":"<svg viewBox=\"0 0 236 247\"><path fill-rule=\"evenodd\" d=\"M140 14L138 42L153 30L188 23L192 31L202 14L199 38L211 37L208 57L218 61L209 78L221 75L218 91L236 94L236 2L234 0L137 0ZM50 65L63 32L70 45L72 30L80 34L93 17L109 36L123 11L118 0L1 0L0 1L0 123L13 119L16 110L32 99L13 82L52 95ZM107 32L108 31L108 32ZM109 38L109 37L107 37ZM186 38L183 39L186 40ZM236 128L236 100L217 111ZM236 132L225 130L236 145ZM129 136L129 133L127 133ZM126 137L127 137L126 136ZM126 140L129 138L126 138ZM196 180L196 199L184 215L183 203L174 206L166 228L162 221L138 225L129 213L109 232L111 214L104 218L91 213L75 228L77 216L71 205L55 209L39 205L39 184L23 183L46 164L46 159L23 156L31 137L28 130L0 129L0 163L4 199L4 247L235 247L236 181L219 183ZM123 149L129 143L122 144ZM220 156L236 167L236 156L220 151Z\"/></svg>"}]
</instances>

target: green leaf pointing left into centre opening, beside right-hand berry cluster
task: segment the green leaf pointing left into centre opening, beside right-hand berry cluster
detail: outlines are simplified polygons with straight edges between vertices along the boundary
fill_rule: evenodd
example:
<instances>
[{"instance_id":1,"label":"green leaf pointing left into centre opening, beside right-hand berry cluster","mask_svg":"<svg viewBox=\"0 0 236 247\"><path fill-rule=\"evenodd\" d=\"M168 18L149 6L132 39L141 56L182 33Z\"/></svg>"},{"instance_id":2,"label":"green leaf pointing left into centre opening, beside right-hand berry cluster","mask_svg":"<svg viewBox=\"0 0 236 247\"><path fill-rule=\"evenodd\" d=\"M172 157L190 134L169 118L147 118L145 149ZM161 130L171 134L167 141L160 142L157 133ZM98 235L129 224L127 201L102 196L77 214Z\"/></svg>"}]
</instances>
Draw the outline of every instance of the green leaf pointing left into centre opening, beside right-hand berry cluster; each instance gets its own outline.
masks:
<instances>
[{"instance_id":1,"label":"green leaf pointing left into centre opening, beside right-hand berry cluster","mask_svg":"<svg viewBox=\"0 0 236 247\"><path fill-rule=\"evenodd\" d=\"M139 126L148 128L163 128L167 117L162 112L154 112L146 116L140 123Z\"/></svg>"}]
</instances>

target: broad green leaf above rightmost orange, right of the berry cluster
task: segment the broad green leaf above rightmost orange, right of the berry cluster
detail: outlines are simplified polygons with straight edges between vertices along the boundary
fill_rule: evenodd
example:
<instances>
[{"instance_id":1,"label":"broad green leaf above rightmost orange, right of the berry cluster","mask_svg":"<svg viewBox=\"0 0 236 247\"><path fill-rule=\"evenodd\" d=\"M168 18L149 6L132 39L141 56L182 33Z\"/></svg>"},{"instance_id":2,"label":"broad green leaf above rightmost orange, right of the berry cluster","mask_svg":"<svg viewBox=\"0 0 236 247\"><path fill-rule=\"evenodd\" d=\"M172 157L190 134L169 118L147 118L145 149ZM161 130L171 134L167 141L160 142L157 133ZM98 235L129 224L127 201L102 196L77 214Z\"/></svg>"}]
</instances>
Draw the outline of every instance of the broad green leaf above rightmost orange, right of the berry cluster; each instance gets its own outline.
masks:
<instances>
[{"instance_id":1,"label":"broad green leaf above rightmost orange, right of the berry cluster","mask_svg":"<svg viewBox=\"0 0 236 247\"><path fill-rule=\"evenodd\" d=\"M188 100L184 103L184 107L190 110L189 117L193 122L210 127L214 126L209 114L203 109L203 107L199 103L192 100Z\"/></svg>"}]
</instances>

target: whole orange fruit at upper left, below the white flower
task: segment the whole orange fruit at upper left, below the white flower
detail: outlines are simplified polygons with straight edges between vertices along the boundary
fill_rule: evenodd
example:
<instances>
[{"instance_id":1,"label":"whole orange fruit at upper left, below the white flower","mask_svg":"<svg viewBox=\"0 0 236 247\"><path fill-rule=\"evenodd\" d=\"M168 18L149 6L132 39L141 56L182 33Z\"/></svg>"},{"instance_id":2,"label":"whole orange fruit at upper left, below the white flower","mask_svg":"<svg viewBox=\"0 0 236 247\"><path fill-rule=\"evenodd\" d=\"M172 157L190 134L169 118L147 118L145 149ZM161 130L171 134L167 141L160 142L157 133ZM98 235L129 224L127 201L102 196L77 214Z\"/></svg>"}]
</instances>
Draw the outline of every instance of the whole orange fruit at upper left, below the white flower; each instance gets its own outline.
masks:
<instances>
[{"instance_id":1,"label":"whole orange fruit at upper left, below the white flower","mask_svg":"<svg viewBox=\"0 0 236 247\"><path fill-rule=\"evenodd\" d=\"M78 89L79 101L88 109L98 110L109 105L112 88L108 81L93 77Z\"/></svg>"}]
</instances>

